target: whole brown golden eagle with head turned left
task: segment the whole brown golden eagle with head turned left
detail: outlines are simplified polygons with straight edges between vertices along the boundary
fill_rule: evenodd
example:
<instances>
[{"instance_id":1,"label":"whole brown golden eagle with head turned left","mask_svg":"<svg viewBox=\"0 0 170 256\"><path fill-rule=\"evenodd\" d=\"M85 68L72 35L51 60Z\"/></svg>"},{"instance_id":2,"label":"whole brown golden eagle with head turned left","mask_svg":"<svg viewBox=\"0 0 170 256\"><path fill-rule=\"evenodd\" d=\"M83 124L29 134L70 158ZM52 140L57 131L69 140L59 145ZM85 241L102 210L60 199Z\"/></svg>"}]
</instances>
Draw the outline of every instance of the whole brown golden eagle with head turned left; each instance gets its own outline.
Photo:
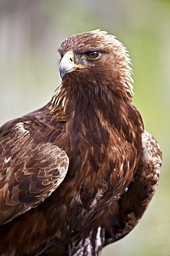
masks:
<instances>
[{"instance_id":1,"label":"whole brown golden eagle with head turned left","mask_svg":"<svg viewBox=\"0 0 170 256\"><path fill-rule=\"evenodd\" d=\"M52 100L0 129L1 255L98 255L158 185L161 150L131 104L123 45L94 30L59 53Z\"/></svg>"}]
</instances>

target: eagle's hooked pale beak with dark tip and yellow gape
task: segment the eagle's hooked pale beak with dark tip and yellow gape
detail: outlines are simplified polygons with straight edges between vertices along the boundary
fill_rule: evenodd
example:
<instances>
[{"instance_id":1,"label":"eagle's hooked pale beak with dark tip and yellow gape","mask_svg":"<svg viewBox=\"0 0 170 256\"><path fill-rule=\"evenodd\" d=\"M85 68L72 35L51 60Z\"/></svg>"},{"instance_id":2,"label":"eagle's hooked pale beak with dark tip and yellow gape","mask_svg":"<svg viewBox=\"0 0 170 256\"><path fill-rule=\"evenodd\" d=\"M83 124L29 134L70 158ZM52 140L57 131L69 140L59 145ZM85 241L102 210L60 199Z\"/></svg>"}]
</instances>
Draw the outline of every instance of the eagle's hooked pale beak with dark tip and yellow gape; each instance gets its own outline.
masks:
<instances>
[{"instance_id":1,"label":"eagle's hooked pale beak with dark tip and yellow gape","mask_svg":"<svg viewBox=\"0 0 170 256\"><path fill-rule=\"evenodd\" d=\"M80 68L88 68L88 66L81 66L74 63L74 54L71 51L65 53L63 58L61 59L59 71L61 75L61 79L64 80L64 76L66 73L70 73L72 71L76 71L76 69Z\"/></svg>"}]
</instances>

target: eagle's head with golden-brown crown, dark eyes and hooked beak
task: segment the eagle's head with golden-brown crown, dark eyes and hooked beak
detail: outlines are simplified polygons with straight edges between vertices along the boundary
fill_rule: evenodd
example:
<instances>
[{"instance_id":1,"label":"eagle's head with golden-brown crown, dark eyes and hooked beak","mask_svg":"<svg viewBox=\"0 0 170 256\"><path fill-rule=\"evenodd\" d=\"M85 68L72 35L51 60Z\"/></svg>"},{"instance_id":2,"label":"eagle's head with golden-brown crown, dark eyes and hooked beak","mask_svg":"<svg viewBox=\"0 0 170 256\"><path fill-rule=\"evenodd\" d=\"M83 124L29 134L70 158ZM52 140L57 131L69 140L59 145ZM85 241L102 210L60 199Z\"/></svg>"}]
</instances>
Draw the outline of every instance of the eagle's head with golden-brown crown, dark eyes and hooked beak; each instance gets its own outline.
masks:
<instances>
[{"instance_id":1,"label":"eagle's head with golden-brown crown, dark eyes and hooked beak","mask_svg":"<svg viewBox=\"0 0 170 256\"><path fill-rule=\"evenodd\" d=\"M131 98L130 59L126 48L105 31L93 30L67 37L59 47L59 71L63 82L89 86L93 91L121 91ZM100 88L99 88L100 86Z\"/></svg>"}]
</instances>

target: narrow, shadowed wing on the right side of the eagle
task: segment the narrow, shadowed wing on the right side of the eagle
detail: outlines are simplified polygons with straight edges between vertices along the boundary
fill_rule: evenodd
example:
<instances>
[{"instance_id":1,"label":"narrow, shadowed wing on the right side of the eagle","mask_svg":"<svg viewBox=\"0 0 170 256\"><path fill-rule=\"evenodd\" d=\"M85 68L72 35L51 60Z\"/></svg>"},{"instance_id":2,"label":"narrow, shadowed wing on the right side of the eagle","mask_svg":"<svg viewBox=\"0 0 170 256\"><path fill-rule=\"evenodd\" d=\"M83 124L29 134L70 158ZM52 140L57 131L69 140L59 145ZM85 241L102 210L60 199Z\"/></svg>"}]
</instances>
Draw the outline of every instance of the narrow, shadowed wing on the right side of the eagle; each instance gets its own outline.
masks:
<instances>
[{"instance_id":1,"label":"narrow, shadowed wing on the right side of the eagle","mask_svg":"<svg viewBox=\"0 0 170 256\"><path fill-rule=\"evenodd\" d=\"M107 231L111 237L105 240L105 245L121 239L136 226L156 192L161 163L160 146L155 138L145 131L142 134L142 154L138 169L118 201L118 218L110 219L112 225Z\"/></svg>"}]
</instances>

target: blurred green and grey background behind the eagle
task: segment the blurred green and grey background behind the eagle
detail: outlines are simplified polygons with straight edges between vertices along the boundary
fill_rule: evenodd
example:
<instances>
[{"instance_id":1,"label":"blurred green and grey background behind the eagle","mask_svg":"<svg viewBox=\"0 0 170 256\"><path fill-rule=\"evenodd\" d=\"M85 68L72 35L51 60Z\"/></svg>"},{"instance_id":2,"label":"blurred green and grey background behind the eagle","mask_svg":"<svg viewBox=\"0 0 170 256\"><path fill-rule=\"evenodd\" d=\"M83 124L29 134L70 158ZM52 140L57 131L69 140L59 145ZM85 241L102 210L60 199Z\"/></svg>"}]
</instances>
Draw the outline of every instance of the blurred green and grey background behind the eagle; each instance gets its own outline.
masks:
<instances>
[{"instance_id":1,"label":"blurred green and grey background behind the eagle","mask_svg":"<svg viewBox=\"0 0 170 256\"><path fill-rule=\"evenodd\" d=\"M102 256L170 255L170 1L1 0L0 125L48 102L60 83L57 48L101 28L129 51L134 104L163 151L160 184L140 223Z\"/></svg>"}]
</instances>

